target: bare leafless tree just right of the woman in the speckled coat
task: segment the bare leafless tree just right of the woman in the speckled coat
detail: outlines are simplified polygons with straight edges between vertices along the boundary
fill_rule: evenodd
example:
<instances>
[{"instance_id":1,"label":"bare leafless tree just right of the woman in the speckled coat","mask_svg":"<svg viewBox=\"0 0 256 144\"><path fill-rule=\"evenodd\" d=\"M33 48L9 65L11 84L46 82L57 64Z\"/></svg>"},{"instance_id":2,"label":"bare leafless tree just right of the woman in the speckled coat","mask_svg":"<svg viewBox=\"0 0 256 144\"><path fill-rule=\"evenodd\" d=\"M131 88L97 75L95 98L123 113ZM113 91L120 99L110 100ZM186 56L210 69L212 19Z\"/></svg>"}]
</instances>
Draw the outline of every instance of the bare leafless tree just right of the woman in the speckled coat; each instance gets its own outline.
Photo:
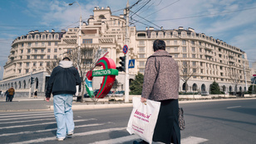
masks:
<instances>
[{"instance_id":1,"label":"bare leafless tree just right of the woman in the speckled coat","mask_svg":"<svg viewBox=\"0 0 256 144\"><path fill-rule=\"evenodd\" d=\"M192 63L192 64L191 64ZM199 64L198 64L199 65ZM181 61L180 63L180 79L185 82L185 93L188 91L188 81L192 76L199 75L199 66L195 61Z\"/></svg>"}]
</instances>

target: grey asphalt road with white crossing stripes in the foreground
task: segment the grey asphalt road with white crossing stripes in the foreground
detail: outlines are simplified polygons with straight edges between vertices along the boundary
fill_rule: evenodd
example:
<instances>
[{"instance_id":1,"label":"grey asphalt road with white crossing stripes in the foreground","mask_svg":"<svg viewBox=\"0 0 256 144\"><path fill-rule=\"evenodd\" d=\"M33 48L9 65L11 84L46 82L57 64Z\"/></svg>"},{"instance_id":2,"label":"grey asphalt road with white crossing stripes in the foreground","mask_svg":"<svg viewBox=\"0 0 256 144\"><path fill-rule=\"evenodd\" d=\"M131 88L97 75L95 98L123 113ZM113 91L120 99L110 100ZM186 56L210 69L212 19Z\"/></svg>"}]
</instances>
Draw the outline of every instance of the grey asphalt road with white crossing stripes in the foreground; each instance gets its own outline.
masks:
<instances>
[{"instance_id":1,"label":"grey asphalt road with white crossing stripes in the foreground","mask_svg":"<svg viewBox=\"0 0 256 144\"><path fill-rule=\"evenodd\" d=\"M185 111L182 144L256 142L256 99L180 103ZM132 143L126 132L132 108L75 110L75 134L62 143ZM52 111L1 112L0 143L61 143Z\"/></svg>"}]
</instances>

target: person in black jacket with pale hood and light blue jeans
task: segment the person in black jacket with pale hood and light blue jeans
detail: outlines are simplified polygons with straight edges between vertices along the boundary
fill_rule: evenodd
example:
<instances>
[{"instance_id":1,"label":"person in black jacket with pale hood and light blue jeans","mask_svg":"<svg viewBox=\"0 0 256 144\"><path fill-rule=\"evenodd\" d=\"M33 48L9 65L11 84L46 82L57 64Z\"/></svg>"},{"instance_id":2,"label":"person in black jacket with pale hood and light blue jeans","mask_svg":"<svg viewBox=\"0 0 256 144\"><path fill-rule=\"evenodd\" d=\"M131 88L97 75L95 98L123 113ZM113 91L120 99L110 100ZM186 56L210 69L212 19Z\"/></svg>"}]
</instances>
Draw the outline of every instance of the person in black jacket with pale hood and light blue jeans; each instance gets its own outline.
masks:
<instances>
[{"instance_id":1,"label":"person in black jacket with pale hood and light blue jeans","mask_svg":"<svg viewBox=\"0 0 256 144\"><path fill-rule=\"evenodd\" d=\"M53 94L54 115L57 120L57 140L63 141L74 132L73 112L71 109L76 85L81 84L78 71L68 57L63 58L52 70L47 83L46 99L49 102Z\"/></svg>"}]
</instances>

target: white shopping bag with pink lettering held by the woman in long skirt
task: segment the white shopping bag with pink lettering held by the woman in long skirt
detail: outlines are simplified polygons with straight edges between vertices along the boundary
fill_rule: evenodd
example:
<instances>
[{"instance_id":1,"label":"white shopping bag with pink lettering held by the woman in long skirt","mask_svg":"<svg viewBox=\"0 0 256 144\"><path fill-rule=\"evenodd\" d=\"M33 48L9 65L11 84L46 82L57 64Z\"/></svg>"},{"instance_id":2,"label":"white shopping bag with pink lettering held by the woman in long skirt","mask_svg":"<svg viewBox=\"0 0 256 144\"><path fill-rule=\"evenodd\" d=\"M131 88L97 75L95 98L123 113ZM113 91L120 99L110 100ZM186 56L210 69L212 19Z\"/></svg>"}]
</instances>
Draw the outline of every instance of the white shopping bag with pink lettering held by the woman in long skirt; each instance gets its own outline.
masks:
<instances>
[{"instance_id":1,"label":"white shopping bag with pink lettering held by the woman in long skirt","mask_svg":"<svg viewBox=\"0 0 256 144\"><path fill-rule=\"evenodd\" d=\"M144 141L152 143L160 102L147 99L146 103L141 103L140 98L136 97L132 98L132 102L133 110L126 130L130 134L135 133Z\"/></svg>"}]
</instances>

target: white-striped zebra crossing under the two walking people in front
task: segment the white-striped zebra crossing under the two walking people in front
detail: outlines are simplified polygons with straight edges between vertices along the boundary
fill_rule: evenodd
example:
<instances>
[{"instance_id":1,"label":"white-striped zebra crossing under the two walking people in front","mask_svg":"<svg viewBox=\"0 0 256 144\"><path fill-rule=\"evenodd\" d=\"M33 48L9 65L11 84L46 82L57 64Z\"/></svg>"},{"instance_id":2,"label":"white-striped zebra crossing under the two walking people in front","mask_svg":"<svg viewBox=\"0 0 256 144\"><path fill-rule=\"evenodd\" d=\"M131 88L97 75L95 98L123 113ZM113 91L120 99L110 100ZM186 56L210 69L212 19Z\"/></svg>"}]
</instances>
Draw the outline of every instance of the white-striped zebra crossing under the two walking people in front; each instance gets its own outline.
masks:
<instances>
[{"instance_id":1,"label":"white-striped zebra crossing under the two walking people in front","mask_svg":"<svg viewBox=\"0 0 256 144\"><path fill-rule=\"evenodd\" d=\"M76 116L75 133L64 143L128 144L140 137L126 132L126 126L115 122L102 122L97 118ZM56 143L57 124L53 112L0 113L0 143L29 144ZM115 134L113 134L115 133ZM186 137L183 144L206 142L199 137Z\"/></svg>"}]
</instances>

